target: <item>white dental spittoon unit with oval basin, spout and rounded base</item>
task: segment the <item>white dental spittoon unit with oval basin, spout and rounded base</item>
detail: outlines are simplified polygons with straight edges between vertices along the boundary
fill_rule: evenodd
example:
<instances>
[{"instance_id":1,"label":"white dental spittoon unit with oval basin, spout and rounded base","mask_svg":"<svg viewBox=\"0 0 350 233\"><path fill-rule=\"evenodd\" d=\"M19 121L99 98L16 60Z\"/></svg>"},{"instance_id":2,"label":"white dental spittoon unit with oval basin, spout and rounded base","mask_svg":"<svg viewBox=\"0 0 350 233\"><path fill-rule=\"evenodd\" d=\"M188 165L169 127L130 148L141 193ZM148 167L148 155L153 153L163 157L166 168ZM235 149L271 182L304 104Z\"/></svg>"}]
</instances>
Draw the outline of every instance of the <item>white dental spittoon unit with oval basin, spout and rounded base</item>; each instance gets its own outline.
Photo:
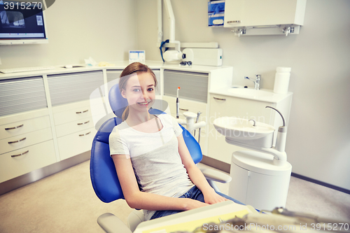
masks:
<instances>
[{"instance_id":1,"label":"white dental spittoon unit with oval basin, spout and rounded base","mask_svg":"<svg viewBox=\"0 0 350 233\"><path fill-rule=\"evenodd\" d=\"M260 210L285 206L292 166L286 155L286 121L279 127L274 142L274 127L253 119L223 117L214 120L225 141L250 150L232 153L229 196ZM239 188L237 188L239 187Z\"/></svg>"}]
</instances>

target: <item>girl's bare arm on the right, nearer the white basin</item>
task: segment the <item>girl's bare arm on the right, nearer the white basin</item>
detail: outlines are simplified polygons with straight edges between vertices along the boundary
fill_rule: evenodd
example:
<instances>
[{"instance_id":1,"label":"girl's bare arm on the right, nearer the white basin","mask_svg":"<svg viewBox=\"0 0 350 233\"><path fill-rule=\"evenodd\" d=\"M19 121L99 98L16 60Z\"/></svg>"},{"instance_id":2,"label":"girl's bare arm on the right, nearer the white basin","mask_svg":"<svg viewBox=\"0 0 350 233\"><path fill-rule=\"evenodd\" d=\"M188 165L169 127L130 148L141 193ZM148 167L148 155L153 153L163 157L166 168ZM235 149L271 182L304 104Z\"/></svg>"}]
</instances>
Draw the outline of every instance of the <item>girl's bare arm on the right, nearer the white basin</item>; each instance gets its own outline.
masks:
<instances>
[{"instance_id":1,"label":"girl's bare arm on the right, nearer the white basin","mask_svg":"<svg viewBox=\"0 0 350 233\"><path fill-rule=\"evenodd\" d=\"M211 188L207 179L202 174L202 171L200 171L195 162L193 162L186 143L183 140L182 134L180 134L177 139L179 141L179 154L181 156L182 163L185 166L191 181L202 191L205 203L215 204L218 202L225 202L227 199L218 195L215 190Z\"/></svg>"}]
</instances>

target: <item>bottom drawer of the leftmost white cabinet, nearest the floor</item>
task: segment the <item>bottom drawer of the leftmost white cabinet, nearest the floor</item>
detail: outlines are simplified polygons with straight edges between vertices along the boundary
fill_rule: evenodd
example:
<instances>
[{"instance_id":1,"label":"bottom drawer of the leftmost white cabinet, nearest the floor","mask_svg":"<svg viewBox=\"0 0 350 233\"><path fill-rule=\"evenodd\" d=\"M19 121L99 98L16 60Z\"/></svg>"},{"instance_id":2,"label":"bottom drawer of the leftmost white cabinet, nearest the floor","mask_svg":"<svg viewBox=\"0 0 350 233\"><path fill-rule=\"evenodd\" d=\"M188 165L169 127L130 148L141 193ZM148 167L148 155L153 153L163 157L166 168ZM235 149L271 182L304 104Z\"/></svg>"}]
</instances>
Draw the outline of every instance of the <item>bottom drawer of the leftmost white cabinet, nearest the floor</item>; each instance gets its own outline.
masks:
<instances>
[{"instance_id":1,"label":"bottom drawer of the leftmost white cabinet, nearest the floor","mask_svg":"<svg viewBox=\"0 0 350 233\"><path fill-rule=\"evenodd\" d=\"M0 155L0 183L55 162L52 140Z\"/></svg>"}]
</instances>

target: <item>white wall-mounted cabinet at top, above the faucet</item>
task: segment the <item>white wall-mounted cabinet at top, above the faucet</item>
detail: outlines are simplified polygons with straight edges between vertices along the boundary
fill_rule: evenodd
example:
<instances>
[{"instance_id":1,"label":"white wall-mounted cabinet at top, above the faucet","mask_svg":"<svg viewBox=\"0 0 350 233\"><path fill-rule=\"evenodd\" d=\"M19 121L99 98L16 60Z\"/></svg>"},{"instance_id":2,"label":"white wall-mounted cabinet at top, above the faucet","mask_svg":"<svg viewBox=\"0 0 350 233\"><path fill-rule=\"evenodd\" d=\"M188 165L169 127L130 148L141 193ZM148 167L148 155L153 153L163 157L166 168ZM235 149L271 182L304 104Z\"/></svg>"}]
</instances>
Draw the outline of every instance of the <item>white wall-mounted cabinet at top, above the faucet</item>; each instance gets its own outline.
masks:
<instances>
[{"instance_id":1,"label":"white wall-mounted cabinet at top, above the faucet","mask_svg":"<svg viewBox=\"0 0 350 233\"><path fill-rule=\"evenodd\" d=\"M241 35L286 34L288 27L288 33L297 34L305 8L306 0L226 0L224 27Z\"/></svg>"}]
</instances>

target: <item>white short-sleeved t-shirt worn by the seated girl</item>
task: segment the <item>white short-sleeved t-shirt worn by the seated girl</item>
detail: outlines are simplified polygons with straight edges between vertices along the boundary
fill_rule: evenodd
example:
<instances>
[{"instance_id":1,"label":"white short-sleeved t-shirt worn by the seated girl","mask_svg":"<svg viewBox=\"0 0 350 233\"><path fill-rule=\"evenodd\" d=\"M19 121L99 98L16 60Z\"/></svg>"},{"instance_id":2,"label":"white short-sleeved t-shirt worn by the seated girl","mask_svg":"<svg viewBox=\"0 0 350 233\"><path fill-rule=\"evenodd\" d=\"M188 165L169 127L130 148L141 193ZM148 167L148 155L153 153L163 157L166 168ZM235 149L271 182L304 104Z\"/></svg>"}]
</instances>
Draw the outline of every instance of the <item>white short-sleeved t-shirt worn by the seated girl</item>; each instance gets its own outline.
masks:
<instances>
[{"instance_id":1,"label":"white short-sleeved t-shirt worn by the seated girl","mask_svg":"<svg viewBox=\"0 0 350 233\"><path fill-rule=\"evenodd\" d=\"M109 136L111 155L130 155L140 190L167 197L180 197L193 187L179 155L177 136L182 129L171 115L158 115L163 128L144 133L127 122L114 127ZM155 211L146 211L149 220Z\"/></svg>"}]
</instances>

